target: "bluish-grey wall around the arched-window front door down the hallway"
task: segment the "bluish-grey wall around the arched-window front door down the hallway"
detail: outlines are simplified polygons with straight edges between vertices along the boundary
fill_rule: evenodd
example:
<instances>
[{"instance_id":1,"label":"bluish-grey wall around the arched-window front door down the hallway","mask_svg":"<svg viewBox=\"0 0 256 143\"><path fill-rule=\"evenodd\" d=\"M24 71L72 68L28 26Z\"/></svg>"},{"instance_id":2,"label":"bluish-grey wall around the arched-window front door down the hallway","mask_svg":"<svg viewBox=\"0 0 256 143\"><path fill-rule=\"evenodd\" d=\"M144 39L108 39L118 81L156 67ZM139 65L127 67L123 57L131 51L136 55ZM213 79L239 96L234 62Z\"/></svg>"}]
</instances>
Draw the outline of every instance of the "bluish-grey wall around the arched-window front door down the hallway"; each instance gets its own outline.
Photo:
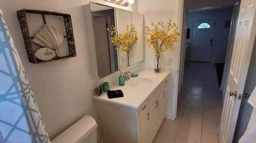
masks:
<instances>
[{"instance_id":1,"label":"bluish-grey wall around the arched-window front door down the hallway","mask_svg":"<svg viewBox=\"0 0 256 143\"><path fill-rule=\"evenodd\" d=\"M204 10L188 13L187 28L190 28L190 39L186 42L193 42L194 22L200 20L216 20L214 32L214 43L212 47L211 62L224 63L228 46L228 35L230 28L224 28L226 21L231 21L232 7L215 10ZM203 39L202 39L203 40ZM210 43L210 42L209 42Z\"/></svg>"}]
</instances>

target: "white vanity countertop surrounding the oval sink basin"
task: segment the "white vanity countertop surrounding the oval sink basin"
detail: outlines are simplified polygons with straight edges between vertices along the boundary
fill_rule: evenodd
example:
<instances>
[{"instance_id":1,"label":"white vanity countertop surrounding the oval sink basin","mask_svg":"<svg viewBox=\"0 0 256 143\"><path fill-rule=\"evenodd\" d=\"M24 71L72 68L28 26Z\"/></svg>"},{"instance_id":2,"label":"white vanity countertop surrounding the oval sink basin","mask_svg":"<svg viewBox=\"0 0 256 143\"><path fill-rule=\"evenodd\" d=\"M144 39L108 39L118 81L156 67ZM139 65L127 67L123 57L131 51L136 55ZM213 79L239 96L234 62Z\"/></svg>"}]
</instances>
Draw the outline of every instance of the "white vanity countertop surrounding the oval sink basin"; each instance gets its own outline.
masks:
<instances>
[{"instance_id":1,"label":"white vanity countertop surrounding the oval sink basin","mask_svg":"<svg viewBox=\"0 0 256 143\"><path fill-rule=\"evenodd\" d=\"M148 96L156 89L156 87L170 74L170 72L154 73L153 71L138 71L138 77L131 77L125 82L124 86L110 87L110 90L122 90L124 97L109 99L106 92L100 96L93 96L92 98L98 101L105 101L108 103L118 104L133 109L138 109L140 105L148 98ZM138 85L137 87L130 87L127 85L135 78L149 78L153 80L150 85Z\"/></svg>"}]
</instances>

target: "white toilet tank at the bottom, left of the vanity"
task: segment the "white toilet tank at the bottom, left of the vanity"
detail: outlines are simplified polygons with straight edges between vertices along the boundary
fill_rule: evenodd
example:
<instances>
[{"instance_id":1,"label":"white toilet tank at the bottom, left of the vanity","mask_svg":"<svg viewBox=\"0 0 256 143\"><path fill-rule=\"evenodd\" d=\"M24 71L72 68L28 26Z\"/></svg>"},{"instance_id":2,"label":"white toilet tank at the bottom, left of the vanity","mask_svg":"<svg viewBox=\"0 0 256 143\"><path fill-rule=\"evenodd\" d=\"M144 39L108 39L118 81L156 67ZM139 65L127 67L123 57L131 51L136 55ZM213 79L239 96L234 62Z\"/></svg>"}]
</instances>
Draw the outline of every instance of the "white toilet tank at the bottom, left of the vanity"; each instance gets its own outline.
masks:
<instances>
[{"instance_id":1,"label":"white toilet tank at the bottom, left of the vanity","mask_svg":"<svg viewBox=\"0 0 256 143\"><path fill-rule=\"evenodd\" d=\"M51 143L96 143L97 123L91 116L84 116L58 135Z\"/></svg>"}]
</instances>

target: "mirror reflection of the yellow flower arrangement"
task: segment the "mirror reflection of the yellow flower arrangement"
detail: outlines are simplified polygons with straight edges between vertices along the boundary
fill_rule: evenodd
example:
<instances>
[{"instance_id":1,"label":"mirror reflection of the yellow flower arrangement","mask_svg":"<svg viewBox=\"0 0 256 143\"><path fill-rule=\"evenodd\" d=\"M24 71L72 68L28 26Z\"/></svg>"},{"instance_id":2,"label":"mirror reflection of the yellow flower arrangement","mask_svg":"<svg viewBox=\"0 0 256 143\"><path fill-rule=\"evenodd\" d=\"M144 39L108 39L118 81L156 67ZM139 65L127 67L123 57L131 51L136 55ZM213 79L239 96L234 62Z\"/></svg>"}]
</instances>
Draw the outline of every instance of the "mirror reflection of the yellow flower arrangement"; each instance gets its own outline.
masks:
<instances>
[{"instance_id":1,"label":"mirror reflection of the yellow flower arrangement","mask_svg":"<svg viewBox=\"0 0 256 143\"><path fill-rule=\"evenodd\" d=\"M113 46L116 46L116 50L126 52L128 57L128 66L129 65L129 55L130 50L133 44L136 44L138 41L138 32L133 24L126 25L126 31L124 32L117 32L116 28L112 25L111 28L107 29L112 37L110 38L111 43Z\"/></svg>"}]
</instances>

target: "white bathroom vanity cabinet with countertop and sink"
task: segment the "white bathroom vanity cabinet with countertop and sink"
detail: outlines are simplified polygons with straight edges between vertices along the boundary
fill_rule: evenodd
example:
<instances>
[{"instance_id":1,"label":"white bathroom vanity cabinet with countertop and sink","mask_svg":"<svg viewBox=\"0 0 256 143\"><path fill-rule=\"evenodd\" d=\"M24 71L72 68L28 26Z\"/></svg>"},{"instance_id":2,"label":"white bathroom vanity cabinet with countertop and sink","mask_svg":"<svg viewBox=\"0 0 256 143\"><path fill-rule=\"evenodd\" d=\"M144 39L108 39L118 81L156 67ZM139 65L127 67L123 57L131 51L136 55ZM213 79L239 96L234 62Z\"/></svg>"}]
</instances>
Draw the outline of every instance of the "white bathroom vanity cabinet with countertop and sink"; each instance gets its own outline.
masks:
<instances>
[{"instance_id":1,"label":"white bathroom vanity cabinet with countertop and sink","mask_svg":"<svg viewBox=\"0 0 256 143\"><path fill-rule=\"evenodd\" d=\"M103 143L152 143L167 113L170 73L139 71L121 89L124 97L94 96Z\"/></svg>"}]
</instances>

